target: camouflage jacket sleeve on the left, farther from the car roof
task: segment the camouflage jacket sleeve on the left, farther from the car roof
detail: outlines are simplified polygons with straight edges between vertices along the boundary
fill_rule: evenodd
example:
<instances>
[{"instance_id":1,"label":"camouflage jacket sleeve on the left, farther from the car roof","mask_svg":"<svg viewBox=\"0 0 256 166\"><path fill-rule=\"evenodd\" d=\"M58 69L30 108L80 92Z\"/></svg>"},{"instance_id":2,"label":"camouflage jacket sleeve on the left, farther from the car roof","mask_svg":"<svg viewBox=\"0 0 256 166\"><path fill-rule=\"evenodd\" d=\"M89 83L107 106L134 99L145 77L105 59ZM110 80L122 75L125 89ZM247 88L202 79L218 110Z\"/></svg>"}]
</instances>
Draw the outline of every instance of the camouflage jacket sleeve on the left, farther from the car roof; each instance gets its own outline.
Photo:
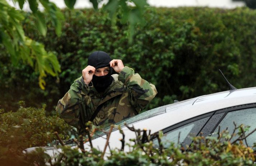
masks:
<instances>
[{"instance_id":1,"label":"camouflage jacket sleeve on the left, farther from the car roof","mask_svg":"<svg viewBox=\"0 0 256 166\"><path fill-rule=\"evenodd\" d=\"M79 105L82 102L82 94L84 94L86 88L82 77L76 79L65 96L59 100L56 107L60 117L76 128L80 126Z\"/></svg>"}]
</instances>

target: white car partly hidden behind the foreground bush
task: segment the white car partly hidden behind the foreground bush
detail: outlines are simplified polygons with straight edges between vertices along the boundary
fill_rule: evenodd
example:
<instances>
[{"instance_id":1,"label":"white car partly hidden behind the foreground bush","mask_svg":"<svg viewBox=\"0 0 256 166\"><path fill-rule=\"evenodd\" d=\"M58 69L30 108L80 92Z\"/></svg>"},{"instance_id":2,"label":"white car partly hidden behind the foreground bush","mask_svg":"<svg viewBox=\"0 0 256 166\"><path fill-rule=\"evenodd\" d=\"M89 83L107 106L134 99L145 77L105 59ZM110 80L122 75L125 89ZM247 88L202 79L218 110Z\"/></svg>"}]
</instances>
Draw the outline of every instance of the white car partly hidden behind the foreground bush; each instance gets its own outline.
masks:
<instances>
[{"instance_id":1,"label":"white car partly hidden behind the foreground bush","mask_svg":"<svg viewBox=\"0 0 256 166\"><path fill-rule=\"evenodd\" d=\"M234 129L235 122L237 125L250 125L250 131L256 128L256 87L235 89L209 95L204 95L181 102L175 102L166 106L151 109L137 116L128 118L118 124L121 125L125 134L125 142L135 138L135 133L124 126L134 126L136 129L151 130L151 133L163 131L163 140L173 142L178 141L180 132L180 143L190 145L190 137L199 135L203 132L204 136L228 127L230 132ZM106 144L106 135L95 138L92 144L95 148L103 151ZM110 135L109 145L111 149L121 148L120 139L122 135L115 130ZM157 141L153 141L156 142ZM256 142L256 133L247 137L247 143L252 146ZM89 142L84 144L89 148ZM166 143L164 146L168 146ZM53 147L47 147L47 153L53 155ZM28 148L32 151L34 148ZM125 149L128 150L128 149ZM109 149L107 149L109 151Z\"/></svg>"}]
</instances>

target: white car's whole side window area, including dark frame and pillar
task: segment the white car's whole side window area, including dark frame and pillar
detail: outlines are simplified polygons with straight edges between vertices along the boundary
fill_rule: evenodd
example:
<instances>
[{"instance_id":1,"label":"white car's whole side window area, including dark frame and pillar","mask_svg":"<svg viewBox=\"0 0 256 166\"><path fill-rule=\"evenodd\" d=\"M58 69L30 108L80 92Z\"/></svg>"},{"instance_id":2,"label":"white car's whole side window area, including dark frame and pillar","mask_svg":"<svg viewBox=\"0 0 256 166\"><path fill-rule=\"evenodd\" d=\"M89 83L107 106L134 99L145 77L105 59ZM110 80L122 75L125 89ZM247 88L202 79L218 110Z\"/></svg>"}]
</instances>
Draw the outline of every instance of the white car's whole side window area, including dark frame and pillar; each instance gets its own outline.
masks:
<instances>
[{"instance_id":1,"label":"white car's whole side window area, including dark frame and pillar","mask_svg":"<svg viewBox=\"0 0 256 166\"><path fill-rule=\"evenodd\" d=\"M217 132L219 125L221 126L220 130L225 130L228 127L232 133L234 121L237 126L240 123L250 125L248 133L256 128L256 104L246 104L213 111L167 127L163 130L163 147L168 147L171 142L181 143L185 147L185 145L192 143L191 137L198 136L200 133L203 136L208 136L213 132ZM249 146L252 146L253 142L256 142L256 132L249 136L247 140ZM153 139L153 142L158 146L156 138Z\"/></svg>"}]
</instances>

